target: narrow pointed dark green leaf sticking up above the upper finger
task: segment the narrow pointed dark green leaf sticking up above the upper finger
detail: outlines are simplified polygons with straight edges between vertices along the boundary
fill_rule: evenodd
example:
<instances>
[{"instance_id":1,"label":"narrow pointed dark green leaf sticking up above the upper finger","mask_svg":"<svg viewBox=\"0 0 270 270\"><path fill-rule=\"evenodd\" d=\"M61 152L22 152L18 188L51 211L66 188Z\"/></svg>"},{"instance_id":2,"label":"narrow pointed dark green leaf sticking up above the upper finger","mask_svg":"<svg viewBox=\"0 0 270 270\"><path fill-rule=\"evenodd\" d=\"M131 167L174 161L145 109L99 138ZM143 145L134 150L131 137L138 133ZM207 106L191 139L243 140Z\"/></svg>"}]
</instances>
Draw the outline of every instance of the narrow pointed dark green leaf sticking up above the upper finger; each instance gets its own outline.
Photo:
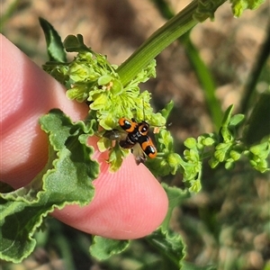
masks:
<instances>
[{"instance_id":1,"label":"narrow pointed dark green leaf sticking up above the upper finger","mask_svg":"<svg viewBox=\"0 0 270 270\"><path fill-rule=\"evenodd\" d=\"M53 26L43 18L40 19L40 26L45 34L45 39L47 43L47 51L49 55L49 61L57 61L66 63L67 55L64 49L62 40L58 35L58 32L53 28Z\"/></svg>"}]
</instances>

